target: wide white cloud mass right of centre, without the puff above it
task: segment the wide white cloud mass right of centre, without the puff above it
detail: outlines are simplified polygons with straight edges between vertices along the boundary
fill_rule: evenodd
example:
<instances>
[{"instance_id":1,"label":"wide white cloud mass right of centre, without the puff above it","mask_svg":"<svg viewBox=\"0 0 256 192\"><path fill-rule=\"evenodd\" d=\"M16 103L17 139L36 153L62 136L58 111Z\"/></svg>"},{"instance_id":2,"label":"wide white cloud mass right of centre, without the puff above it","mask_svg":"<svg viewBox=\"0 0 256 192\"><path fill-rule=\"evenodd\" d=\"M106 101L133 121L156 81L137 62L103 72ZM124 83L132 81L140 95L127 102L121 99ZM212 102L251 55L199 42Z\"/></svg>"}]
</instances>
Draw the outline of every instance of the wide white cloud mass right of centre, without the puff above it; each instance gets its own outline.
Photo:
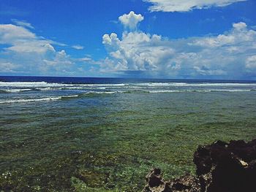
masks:
<instances>
[{"instance_id":1,"label":"wide white cloud mass right of centre, without the puff above it","mask_svg":"<svg viewBox=\"0 0 256 192\"><path fill-rule=\"evenodd\" d=\"M244 78L255 74L256 31L233 23L230 31L211 37L167 39L143 31L105 34L108 57L102 72L146 77Z\"/></svg>"}]
</instances>

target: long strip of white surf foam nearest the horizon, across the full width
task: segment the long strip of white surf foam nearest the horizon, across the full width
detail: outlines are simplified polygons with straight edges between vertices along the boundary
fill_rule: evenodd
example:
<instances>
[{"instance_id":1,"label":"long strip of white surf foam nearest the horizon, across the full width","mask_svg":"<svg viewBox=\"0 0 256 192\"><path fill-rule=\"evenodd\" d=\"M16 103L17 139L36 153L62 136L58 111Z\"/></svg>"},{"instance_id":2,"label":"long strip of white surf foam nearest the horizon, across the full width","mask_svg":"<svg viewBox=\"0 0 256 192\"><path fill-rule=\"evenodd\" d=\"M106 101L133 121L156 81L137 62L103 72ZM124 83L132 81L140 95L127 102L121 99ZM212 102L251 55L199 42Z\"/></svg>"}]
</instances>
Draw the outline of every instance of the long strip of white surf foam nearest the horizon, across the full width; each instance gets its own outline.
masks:
<instances>
[{"instance_id":1,"label":"long strip of white surf foam nearest the horizon, across the full width","mask_svg":"<svg viewBox=\"0 0 256 192\"><path fill-rule=\"evenodd\" d=\"M155 90L156 88L160 90ZM211 82L143 82L143 83L116 83L116 84L62 84L49 82L0 82L0 89L6 93L23 91L61 91L84 90L90 93L124 93L125 91L143 90L148 93L178 93L178 92L241 92L253 91L256 83L211 83ZM183 89L183 90L182 90ZM107 91L109 90L109 91ZM88 92L87 92L88 91ZM123 92L122 92L123 91ZM5 101L4 101L5 102ZM16 101L15 101L16 102Z\"/></svg>"}]
</instances>

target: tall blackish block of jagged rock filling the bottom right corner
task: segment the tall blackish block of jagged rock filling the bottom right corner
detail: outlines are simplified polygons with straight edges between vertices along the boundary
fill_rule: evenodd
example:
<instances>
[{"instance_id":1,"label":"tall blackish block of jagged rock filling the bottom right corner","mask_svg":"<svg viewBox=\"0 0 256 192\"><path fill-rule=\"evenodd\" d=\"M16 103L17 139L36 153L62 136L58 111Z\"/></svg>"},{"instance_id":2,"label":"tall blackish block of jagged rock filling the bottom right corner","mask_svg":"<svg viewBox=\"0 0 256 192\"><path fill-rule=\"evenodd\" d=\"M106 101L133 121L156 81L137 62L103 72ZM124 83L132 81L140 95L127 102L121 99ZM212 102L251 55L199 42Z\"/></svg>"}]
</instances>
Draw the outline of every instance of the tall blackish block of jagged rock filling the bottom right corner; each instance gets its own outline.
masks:
<instances>
[{"instance_id":1,"label":"tall blackish block of jagged rock filling the bottom right corner","mask_svg":"<svg viewBox=\"0 0 256 192\"><path fill-rule=\"evenodd\" d=\"M206 150L206 153L200 151ZM207 161L206 161L207 160ZM214 142L194 154L202 191L256 191L256 142ZM207 169L206 169L207 167Z\"/></svg>"}]
</instances>

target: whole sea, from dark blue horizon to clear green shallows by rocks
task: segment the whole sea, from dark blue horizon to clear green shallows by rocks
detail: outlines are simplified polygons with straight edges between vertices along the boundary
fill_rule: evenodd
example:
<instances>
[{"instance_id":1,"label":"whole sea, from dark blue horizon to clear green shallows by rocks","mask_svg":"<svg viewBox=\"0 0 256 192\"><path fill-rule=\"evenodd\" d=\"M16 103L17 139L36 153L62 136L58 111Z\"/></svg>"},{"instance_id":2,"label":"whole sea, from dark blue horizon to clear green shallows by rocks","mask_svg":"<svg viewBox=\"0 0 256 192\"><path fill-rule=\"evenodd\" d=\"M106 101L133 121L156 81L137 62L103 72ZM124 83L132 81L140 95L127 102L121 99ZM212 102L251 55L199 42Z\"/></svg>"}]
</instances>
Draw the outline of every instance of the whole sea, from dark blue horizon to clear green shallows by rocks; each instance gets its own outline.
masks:
<instances>
[{"instance_id":1,"label":"whole sea, from dark blue horizon to clear green shallows by rocks","mask_svg":"<svg viewBox=\"0 0 256 192\"><path fill-rule=\"evenodd\" d=\"M0 77L0 191L141 191L197 145L255 139L256 82Z\"/></svg>"}]
</instances>

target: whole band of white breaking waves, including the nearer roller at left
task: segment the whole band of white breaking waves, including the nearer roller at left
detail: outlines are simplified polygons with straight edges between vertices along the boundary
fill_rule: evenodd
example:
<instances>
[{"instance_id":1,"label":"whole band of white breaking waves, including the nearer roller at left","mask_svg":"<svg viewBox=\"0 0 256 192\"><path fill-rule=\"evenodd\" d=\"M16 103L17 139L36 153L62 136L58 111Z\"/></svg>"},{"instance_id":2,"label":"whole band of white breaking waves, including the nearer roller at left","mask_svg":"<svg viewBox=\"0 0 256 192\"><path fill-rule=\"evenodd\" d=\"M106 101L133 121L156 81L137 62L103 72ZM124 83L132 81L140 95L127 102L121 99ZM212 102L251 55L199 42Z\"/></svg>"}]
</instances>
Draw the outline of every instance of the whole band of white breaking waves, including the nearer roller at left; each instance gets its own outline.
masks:
<instances>
[{"instance_id":1,"label":"whole band of white breaking waves, including the nearer roller at left","mask_svg":"<svg viewBox=\"0 0 256 192\"><path fill-rule=\"evenodd\" d=\"M243 82L127 82L56 83L0 82L0 104L57 101L111 94L256 91L256 83ZM10 94L10 95L9 95ZM15 95L11 95L15 94ZM16 99L15 99L16 98ZM19 98L19 99L18 99Z\"/></svg>"}]
</instances>

